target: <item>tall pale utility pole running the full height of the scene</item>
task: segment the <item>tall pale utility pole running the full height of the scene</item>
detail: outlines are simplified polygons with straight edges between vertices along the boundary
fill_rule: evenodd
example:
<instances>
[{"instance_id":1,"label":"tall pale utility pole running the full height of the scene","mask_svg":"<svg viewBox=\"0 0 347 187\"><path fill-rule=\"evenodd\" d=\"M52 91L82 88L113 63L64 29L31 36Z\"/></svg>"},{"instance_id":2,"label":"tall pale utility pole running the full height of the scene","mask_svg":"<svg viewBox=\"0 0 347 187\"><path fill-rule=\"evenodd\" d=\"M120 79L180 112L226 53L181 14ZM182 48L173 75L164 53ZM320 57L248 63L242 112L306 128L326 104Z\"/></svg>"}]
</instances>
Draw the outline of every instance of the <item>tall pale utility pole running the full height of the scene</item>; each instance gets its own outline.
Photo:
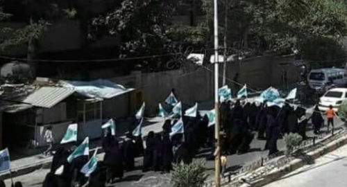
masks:
<instances>
[{"instance_id":1,"label":"tall pale utility pole running the full height of the scene","mask_svg":"<svg viewBox=\"0 0 347 187\"><path fill-rule=\"evenodd\" d=\"M216 143L215 151L215 177L216 187L221 186L221 148L219 136L219 96L218 96L218 79L219 79L219 55L218 55L218 1L214 0L214 110L216 112L215 125L214 125L214 138Z\"/></svg>"}]
</instances>

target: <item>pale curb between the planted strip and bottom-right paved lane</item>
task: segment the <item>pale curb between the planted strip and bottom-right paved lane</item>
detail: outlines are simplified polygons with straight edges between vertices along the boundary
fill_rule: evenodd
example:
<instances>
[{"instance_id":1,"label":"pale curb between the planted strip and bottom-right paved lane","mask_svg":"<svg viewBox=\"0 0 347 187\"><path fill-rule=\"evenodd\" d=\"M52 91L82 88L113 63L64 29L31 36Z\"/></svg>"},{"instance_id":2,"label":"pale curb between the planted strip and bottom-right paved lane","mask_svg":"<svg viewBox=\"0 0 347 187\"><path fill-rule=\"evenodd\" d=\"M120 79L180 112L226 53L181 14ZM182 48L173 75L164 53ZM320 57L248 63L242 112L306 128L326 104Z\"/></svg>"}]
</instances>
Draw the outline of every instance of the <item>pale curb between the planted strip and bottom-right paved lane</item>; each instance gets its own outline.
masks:
<instances>
[{"instance_id":1,"label":"pale curb between the planted strip and bottom-right paved lane","mask_svg":"<svg viewBox=\"0 0 347 187\"><path fill-rule=\"evenodd\" d=\"M305 166L307 163L310 163L310 161L314 161L315 159L318 159L324 154L328 154L329 152L337 150L337 148L340 148L341 146L346 144L347 144L347 136L342 136L340 139L332 141L328 143L328 145L323 146L323 148L319 148L312 152L308 152L306 154L307 155L306 157L294 159L293 161L291 161L286 166L283 166L282 168L273 169L268 175L264 176L262 179L251 182L250 185L254 187L260 187L260 186L269 184L273 181L276 181L280 177L287 175L289 172L293 172L297 170L298 168Z\"/></svg>"}]
</instances>

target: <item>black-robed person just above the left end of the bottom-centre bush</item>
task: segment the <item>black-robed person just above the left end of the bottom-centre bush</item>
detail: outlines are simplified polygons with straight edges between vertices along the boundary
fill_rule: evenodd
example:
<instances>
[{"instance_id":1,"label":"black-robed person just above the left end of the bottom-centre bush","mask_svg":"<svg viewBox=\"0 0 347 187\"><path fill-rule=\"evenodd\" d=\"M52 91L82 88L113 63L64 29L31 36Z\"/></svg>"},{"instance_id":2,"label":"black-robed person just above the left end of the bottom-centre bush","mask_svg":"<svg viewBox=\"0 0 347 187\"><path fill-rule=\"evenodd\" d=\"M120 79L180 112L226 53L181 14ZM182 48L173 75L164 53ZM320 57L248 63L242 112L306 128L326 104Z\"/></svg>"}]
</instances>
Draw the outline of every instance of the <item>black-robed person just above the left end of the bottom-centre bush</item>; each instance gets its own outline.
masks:
<instances>
[{"instance_id":1,"label":"black-robed person just above the left end of the bottom-centre bush","mask_svg":"<svg viewBox=\"0 0 347 187\"><path fill-rule=\"evenodd\" d=\"M164 133L162 136L162 170L163 172L170 172L172 170L171 163L174 159L174 153L172 152L172 143L170 136Z\"/></svg>"}]
</instances>

